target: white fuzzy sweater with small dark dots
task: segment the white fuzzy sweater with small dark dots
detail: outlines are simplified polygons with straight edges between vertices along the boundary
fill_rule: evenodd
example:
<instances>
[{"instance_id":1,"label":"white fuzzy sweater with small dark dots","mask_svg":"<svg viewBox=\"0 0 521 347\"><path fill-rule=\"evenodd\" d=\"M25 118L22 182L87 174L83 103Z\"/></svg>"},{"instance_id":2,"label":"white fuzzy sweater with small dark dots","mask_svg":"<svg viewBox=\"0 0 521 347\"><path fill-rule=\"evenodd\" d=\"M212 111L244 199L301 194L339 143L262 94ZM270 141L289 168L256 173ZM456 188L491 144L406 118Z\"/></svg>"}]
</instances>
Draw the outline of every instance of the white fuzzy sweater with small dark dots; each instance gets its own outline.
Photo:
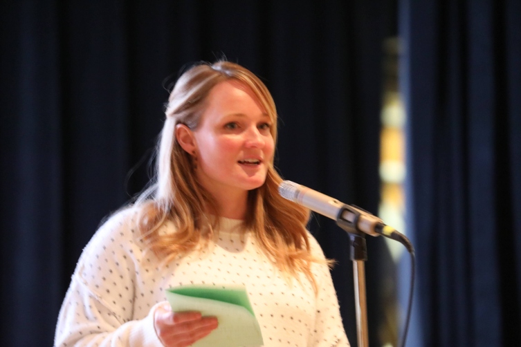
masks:
<instances>
[{"instance_id":1,"label":"white fuzzy sweater with small dark dots","mask_svg":"<svg viewBox=\"0 0 521 347\"><path fill-rule=\"evenodd\" d=\"M169 223L161 232L173 232ZM109 219L85 247L60 310L55 346L162 346L154 310L165 290L187 284L246 287L264 346L349 346L329 269L313 265L316 295L302 274L287 281L241 221L222 218L204 250L160 265L144 252L127 209ZM313 254L324 257L309 234Z\"/></svg>"}]
</instances>

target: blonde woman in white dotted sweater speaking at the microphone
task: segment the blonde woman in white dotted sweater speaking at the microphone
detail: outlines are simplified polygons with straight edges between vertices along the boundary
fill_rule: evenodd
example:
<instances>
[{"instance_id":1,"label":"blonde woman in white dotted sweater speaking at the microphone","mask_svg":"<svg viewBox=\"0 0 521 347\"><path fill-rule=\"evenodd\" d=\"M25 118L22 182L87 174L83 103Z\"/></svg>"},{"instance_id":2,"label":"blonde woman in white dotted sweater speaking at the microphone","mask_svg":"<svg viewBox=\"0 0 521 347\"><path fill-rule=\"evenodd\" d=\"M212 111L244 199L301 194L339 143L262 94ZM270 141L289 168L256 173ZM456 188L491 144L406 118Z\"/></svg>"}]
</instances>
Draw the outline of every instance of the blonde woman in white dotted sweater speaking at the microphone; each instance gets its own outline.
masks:
<instances>
[{"instance_id":1,"label":"blonde woman in white dotted sweater speaking at the microphone","mask_svg":"<svg viewBox=\"0 0 521 347\"><path fill-rule=\"evenodd\" d=\"M166 109L156 180L85 248L55 346L189 346L215 317L172 312L165 290L246 287L264 346L349 346L309 211L279 196L277 113L230 62L181 75Z\"/></svg>"}]
</instances>

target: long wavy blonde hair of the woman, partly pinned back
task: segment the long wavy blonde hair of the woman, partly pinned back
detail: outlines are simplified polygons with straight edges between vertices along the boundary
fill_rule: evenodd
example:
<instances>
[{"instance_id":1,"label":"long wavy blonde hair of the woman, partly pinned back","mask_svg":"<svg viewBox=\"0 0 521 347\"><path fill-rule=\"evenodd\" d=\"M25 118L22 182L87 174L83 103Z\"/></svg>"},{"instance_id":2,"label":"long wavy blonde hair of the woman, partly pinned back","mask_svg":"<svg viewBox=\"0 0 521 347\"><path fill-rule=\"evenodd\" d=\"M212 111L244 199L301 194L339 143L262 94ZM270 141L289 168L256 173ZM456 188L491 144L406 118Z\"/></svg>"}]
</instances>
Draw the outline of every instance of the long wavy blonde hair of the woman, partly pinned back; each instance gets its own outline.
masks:
<instances>
[{"instance_id":1,"label":"long wavy blonde hair of the woman, partly pinned back","mask_svg":"<svg viewBox=\"0 0 521 347\"><path fill-rule=\"evenodd\" d=\"M138 199L140 235L149 250L170 261L199 247L212 237L218 226L214 198L196 180L192 156L175 138L176 124L196 129L210 90L220 82L235 79L246 84L268 113L277 138L275 102L262 81L246 68L232 62L201 63L185 71L168 100L166 120L158 143L156 180ZM282 178L269 163L264 185L248 192L244 227L255 234L264 253L284 274L298 277L303 272L316 290L311 263L321 262L311 255L307 235L309 210L278 194ZM171 221L176 232L160 234L159 227Z\"/></svg>"}]
</instances>

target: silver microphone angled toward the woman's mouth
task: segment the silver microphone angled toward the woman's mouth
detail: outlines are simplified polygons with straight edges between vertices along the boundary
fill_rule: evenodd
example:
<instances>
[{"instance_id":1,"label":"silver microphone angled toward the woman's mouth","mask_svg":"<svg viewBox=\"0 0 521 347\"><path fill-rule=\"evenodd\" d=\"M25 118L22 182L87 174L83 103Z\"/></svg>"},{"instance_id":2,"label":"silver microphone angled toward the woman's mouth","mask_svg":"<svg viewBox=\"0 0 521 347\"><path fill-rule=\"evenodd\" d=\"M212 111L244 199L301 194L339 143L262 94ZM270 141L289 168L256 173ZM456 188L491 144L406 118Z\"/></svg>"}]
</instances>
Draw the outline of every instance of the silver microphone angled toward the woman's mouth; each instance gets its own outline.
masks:
<instances>
[{"instance_id":1,"label":"silver microphone angled toward the woman's mouth","mask_svg":"<svg viewBox=\"0 0 521 347\"><path fill-rule=\"evenodd\" d=\"M392 227L369 212L352 205L345 205L319 191L304 187L291 180L284 180L279 185L282 198L298 203L313 212L335 220L343 229L358 234L364 232L371 236L387 236L396 240L401 236Z\"/></svg>"}]
</instances>

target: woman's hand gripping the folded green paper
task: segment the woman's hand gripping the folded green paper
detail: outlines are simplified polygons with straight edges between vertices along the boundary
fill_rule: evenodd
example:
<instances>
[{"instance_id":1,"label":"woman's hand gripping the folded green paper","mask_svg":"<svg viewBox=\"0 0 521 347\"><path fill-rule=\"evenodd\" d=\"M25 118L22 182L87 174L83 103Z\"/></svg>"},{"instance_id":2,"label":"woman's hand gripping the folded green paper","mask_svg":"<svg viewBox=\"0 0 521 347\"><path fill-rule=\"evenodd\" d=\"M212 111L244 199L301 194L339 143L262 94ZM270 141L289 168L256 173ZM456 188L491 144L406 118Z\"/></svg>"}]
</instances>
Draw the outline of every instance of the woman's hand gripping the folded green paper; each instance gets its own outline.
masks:
<instances>
[{"instance_id":1,"label":"woman's hand gripping the folded green paper","mask_svg":"<svg viewBox=\"0 0 521 347\"><path fill-rule=\"evenodd\" d=\"M154 328L165 347L190 346L217 326L216 317L201 317L201 312L172 312L169 305L154 312Z\"/></svg>"}]
</instances>

